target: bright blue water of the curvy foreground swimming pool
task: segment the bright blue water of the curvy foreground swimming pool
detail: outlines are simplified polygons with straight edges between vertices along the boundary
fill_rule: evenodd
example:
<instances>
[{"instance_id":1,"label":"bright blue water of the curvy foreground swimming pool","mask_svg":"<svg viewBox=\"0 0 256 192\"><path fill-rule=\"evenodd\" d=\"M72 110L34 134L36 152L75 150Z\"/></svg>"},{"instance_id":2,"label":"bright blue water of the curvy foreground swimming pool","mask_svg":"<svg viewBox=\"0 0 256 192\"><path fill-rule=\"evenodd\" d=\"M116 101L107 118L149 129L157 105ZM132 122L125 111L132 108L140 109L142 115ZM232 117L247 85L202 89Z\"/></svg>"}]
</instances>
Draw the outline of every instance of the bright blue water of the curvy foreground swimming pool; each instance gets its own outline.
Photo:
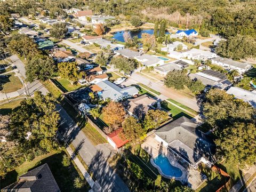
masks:
<instances>
[{"instance_id":1,"label":"bright blue water of the curvy foreground swimming pool","mask_svg":"<svg viewBox=\"0 0 256 192\"><path fill-rule=\"evenodd\" d=\"M175 166L172 166L169 162L169 159L163 155L160 154L156 158L154 158L154 163L160 167L162 172L170 177L181 177L182 171Z\"/></svg>"}]
</instances>

